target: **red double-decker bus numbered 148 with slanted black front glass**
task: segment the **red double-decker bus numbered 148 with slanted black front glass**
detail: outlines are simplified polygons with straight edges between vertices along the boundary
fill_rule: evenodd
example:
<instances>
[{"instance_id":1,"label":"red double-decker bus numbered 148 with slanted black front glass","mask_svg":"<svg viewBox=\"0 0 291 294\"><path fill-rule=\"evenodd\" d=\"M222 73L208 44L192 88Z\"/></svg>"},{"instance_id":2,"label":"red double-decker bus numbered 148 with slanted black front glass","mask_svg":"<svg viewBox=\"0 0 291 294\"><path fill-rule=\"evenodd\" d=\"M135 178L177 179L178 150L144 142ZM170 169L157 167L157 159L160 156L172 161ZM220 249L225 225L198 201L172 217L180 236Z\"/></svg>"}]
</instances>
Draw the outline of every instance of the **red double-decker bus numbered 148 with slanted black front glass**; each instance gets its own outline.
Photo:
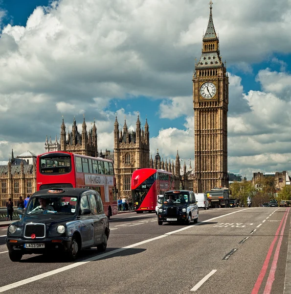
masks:
<instances>
[{"instance_id":1,"label":"red double-decker bus numbered 148 with slanted black front glass","mask_svg":"<svg viewBox=\"0 0 291 294\"><path fill-rule=\"evenodd\" d=\"M133 172L131 191L136 213L156 212L157 195L174 190L171 172L155 169L140 169Z\"/></svg>"}]
</instances>

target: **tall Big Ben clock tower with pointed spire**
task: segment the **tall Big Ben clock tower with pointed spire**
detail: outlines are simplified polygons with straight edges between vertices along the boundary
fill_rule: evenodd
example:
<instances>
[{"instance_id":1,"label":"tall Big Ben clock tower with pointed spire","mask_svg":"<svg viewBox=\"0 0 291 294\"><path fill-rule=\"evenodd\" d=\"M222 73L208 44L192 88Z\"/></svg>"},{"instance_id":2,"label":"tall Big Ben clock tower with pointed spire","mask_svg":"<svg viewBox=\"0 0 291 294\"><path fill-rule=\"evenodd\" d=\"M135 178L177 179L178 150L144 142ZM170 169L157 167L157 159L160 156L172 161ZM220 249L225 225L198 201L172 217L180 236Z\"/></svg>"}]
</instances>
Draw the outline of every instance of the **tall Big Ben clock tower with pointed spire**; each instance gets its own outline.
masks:
<instances>
[{"instance_id":1,"label":"tall Big Ben clock tower with pointed spire","mask_svg":"<svg viewBox=\"0 0 291 294\"><path fill-rule=\"evenodd\" d=\"M195 177L198 193L228 187L227 111L228 76L219 51L219 40L210 16L202 54L193 75Z\"/></svg>"}]
</instances>

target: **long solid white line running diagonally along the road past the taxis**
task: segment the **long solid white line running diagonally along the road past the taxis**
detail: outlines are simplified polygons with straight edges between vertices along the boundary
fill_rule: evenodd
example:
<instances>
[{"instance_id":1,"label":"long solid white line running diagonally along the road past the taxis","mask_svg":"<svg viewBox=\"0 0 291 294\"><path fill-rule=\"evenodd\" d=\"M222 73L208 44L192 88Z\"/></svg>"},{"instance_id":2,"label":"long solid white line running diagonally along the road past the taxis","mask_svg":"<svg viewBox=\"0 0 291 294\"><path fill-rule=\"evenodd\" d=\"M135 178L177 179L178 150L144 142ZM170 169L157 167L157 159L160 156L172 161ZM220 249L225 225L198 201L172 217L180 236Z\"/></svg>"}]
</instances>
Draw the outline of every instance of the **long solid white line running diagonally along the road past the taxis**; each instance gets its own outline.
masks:
<instances>
[{"instance_id":1,"label":"long solid white line running diagonally along the road past the taxis","mask_svg":"<svg viewBox=\"0 0 291 294\"><path fill-rule=\"evenodd\" d=\"M219 219L219 218L222 218L222 217L225 217L225 216L228 216L228 215L231 215L231 214L240 212L240 211L244 211L244 210L247 210L247 209L250 209L250 208L246 208L246 209L234 211L234 212L231 212L229 214L226 214L226 215L223 215L223 216L219 216L219 217L216 217L216 218L212 218L212 219L209 219L209 220L206 220L206 221L202 221L202 222L216 220L216 219ZM184 229L190 229L190 228L193 228L193 227L194 226L187 226L187 227L182 228L180 230L173 231L172 234L174 232L183 231ZM88 259L85 259L84 261L73 263L73 264L68 265L68 266L65 266L63 268L59 268L59 269L56 269L56 270L47 271L47 272L41 273L39 275L36 275L36 276L30 277L30 278L24 279L22 281L18 281L18 282L12 283L12 284L8 284L6 286L2 286L2 287L0 287L0 293L2 293L4 291L8 291L10 289L14 289L14 288L20 287L22 285L25 285L25 284L28 284L28 283L31 283L31 282L34 282L34 281L37 281L37 280L40 280L40 279L43 279L43 278L46 278L46 277L51 276L51 275L54 275L56 273L63 272L65 270L70 270L70 269L73 269L73 268L76 268L76 267L85 265L85 264L87 264L87 263L89 263L91 261L95 261L95 260L98 260L98 259L101 259L101 258L110 256L112 254L115 254L115 253L124 251L126 249L133 248L133 247L136 247L136 246L139 246L139 245L143 245L143 244L148 243L148 242L152 242L152 241L155 241L155 240L158 240L158 239L167 237L168 235L171 235L171 233L170 234L167 233L167 234L164 234L164 235L160 235L160 236L157 236L157 237L152 238L152 239L148 239L148 240L145 240L145 241L142 241L142 242L139 242L139 243L135 243L133 245L128 245L128 246L125 246L125 247L122 247L122 248L118 248L118 249L109 251L107 253L103 253L103 254L100 254L100 255L97 255L97 256L90 257Z\"/></svg>"}]
</instances>

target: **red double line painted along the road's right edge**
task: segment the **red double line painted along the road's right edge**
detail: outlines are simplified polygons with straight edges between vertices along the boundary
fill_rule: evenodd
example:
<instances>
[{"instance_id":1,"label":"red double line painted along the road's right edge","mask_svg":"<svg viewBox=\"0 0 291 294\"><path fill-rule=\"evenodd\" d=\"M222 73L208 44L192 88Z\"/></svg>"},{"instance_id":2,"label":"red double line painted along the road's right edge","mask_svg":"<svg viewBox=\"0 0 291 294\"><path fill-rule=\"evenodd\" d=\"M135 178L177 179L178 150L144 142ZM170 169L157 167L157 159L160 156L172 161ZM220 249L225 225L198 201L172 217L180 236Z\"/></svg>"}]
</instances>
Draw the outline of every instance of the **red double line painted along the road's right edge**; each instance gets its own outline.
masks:
<instances>
[{"instance_id":1,"label":"red double line painted along the road's right edge","mask_svg":"<svg viewBox=\"0 0 291 294\"><path fill-rule=\"evenodd\" d=\"M274 238L272 244L269 247L269 251L268 251L267 257L265 259L265 262L263 264L262 270L260 271L260 274L258 276L258 279L257 279L257 281L255 283L255 286L254 286L251 294L257 294L259 292L259 290L260 290L262 281L263 281L263 279L264 279L264 277L266 275L267 269L268 269L268 265L269 265L269 261L270 261L271 255L272 255L272 251L273 251L274 245L275 245L275 243L276 243L276 241L278 239L278 235L279 235L280 229L282 227L282 224L284 223L283 228L282 228L282 231L281 231L280 239L283 238L283 233L284 233L284 229L285 229L285 225L286 225L286 221L287 221L289 210L290 210L290 208L288 208L286 210L286 212L285 212L285 214L284 214L284 216L282 218L282 221L280 222L280 225L279 225L279 227L278 227L278 229L276 231L276 234L275 234L275 238ZM265 288L265 291L267 291L267 292L264 291L264 294L265 293L270 293L270 291L271 291L272 283L274 281L275 271L276 271L276 268L277 268L277 261L278 261L278 255L279 255L281 243L282 243L282 240L281 240L281 242L280 241L278 242L278 245L276 247L274 260L273 260L273 263L272 263L272 266L271 266L271 270L270 270L268 281L267 281L267 285L266 285L266 288L267 289Z\"/></svg>"}]
</instances>

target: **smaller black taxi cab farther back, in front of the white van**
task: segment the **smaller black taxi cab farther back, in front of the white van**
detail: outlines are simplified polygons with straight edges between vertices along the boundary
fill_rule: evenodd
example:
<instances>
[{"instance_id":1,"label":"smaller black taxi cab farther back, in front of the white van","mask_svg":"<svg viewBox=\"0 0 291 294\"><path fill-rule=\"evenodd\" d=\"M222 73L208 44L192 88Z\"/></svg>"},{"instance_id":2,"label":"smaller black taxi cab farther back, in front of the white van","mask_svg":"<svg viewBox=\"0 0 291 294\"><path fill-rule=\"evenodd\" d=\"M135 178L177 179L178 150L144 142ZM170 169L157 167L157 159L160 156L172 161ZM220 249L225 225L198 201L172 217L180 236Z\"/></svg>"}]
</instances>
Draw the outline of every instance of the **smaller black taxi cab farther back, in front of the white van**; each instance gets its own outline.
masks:
<instances>
[{"instance_id":1,"label":"smaller black taxi cab farther back, in front of the white van","mask_svg":"<svg viewBox=\"0 0 291 294\"><path fill-rule=\"evenodd\" d=\"M157 212L157 223L185 221L198 222L198 205L193 191L167 191Z\"/></svg>"}]
</instances>

